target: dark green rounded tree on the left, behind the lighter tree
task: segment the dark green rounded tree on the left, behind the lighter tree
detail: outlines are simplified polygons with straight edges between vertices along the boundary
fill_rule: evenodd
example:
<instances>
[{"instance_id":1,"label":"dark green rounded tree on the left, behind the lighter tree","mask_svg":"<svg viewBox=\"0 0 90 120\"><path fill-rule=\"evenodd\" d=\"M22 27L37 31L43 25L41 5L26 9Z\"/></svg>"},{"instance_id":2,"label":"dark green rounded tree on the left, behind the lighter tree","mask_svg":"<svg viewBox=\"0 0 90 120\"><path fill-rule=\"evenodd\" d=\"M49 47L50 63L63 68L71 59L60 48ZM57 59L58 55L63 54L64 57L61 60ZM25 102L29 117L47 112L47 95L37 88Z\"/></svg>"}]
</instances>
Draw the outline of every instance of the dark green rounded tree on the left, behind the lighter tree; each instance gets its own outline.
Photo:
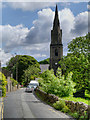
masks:
<instances>
[{"instance_id":1,"label":"dark green rounded tree on the left, behind the lighter tree","mask_svg":"<svg viewBox=\"0 0 90 120\"><path fill-rule=\"evenodd\" d=\"M14 79L16 79L16 69L18 73L18 82L22 83L22 75L24 74L24 70L26 70L29 66L36 66L39 68L39 63L37 60L28 55L16 55L12 57L7 64L7 69L13 73Z\"/></svg>"}]
</instances>

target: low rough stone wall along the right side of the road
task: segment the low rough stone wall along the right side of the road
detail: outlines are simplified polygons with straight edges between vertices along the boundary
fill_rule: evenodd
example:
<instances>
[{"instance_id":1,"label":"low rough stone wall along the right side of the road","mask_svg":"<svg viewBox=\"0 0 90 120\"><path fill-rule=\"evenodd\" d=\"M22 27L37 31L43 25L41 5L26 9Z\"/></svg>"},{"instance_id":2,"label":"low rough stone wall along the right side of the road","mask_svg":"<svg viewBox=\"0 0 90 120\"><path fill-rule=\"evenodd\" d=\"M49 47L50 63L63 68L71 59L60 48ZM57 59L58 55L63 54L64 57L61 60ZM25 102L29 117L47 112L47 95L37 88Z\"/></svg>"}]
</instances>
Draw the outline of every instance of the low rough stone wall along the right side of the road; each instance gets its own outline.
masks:
<instances>
[{"instance_id":1,"label":"low rough stone wall along the right side of the road","mask_svg":"<svg viewBox=\"0 0 90 120\"><path fill-rule=\"evenodd\" d=\"M46 94L40 89L36 89L36 93L39 93L45 101L48 101L50 103L55 103L58 101L60 98L53 95L53 94ZM67 101L65 100L66 105L69 107L71 112L79 112L80 115L84 114L84 111L87 111L88 115L90 114L90 106L83 103L83 102L74 102L74 101Z\"/></svg>"}]
</instances>

